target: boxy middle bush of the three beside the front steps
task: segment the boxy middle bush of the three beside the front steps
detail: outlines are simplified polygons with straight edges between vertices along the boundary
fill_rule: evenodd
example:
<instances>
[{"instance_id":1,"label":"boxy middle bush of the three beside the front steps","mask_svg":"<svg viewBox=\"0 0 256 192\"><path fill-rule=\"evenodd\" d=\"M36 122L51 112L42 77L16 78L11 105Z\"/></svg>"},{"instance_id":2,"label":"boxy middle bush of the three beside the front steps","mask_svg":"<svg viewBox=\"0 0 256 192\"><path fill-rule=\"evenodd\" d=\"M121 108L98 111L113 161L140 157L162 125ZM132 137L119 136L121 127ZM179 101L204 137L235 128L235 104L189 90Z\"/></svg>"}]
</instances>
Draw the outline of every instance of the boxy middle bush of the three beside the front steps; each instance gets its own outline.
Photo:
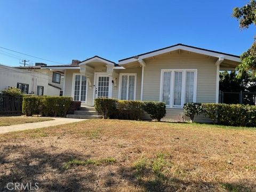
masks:
<instances>
[{"instance_id":1,"label":"boxy middle bush of the three beside the front steps","mask_svg":"<svg viewBox=\"0 0 256 192\"><path fill-rule=\"evenodd\" d=\"M118 100L116 103L116 118L140 120L144 113L143 102Z\"/></svg>"}]
</instances>

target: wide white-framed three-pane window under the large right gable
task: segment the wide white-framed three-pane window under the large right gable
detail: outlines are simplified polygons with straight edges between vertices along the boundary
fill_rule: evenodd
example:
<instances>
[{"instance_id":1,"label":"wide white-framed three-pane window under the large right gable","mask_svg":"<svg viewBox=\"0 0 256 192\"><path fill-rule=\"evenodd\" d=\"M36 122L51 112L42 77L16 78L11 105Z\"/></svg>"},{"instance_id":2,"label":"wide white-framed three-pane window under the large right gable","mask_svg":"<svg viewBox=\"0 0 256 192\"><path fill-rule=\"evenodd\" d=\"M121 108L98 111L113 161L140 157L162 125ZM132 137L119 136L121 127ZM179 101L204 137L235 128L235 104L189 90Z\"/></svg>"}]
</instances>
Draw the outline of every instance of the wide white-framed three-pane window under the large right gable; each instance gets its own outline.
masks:
<instances>
[{"instance_id":1,"label":"wide white-framed three-pane window under the large right gable","mask_svg":"<svg viewBox=\"0 0 256 192\"><path fill-rule=\"evenodd\" d=\"M167 107L196 102L197 69L162 69L160 101Z\"/></svg>"}]
</instances>

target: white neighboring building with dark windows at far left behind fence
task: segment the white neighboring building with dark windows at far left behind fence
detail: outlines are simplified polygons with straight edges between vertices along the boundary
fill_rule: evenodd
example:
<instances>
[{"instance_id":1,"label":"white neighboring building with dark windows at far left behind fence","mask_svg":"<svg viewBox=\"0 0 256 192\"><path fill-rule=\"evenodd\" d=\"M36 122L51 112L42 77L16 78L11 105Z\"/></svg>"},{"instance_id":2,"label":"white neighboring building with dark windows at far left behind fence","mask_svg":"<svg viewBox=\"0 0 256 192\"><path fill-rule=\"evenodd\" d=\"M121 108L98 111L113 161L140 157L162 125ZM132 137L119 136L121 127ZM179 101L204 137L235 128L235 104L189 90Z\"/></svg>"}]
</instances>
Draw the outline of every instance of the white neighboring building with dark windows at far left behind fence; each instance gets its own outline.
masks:
<instances>
[{"instance_id":1,"label":"white neighboring building with dark windows at far left behind fence","mask_svg":"<svg viewBox=\"0 0 256 192\"><path fill-rule=\"evenodd\" d=\"M0 65L0 91L8 87L17 87L25 94L60 95L63 78L61 82L60 76L55 77L54 80L59 83L52 83L51 86L49 82L52 79L53 71L41 70L39 65L18 68Z\"/></svg>"}]
</instances>

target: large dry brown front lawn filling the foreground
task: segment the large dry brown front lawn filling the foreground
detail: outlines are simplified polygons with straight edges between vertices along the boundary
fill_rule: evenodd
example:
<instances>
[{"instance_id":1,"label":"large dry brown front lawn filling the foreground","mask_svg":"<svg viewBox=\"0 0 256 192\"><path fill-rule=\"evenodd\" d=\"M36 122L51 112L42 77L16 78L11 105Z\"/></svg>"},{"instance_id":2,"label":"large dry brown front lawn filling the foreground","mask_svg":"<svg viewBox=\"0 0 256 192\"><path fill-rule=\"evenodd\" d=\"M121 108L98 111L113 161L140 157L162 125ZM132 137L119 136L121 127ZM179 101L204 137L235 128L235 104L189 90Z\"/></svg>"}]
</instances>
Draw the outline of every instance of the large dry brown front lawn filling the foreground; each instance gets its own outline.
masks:
<instances>
[{"instance_id":1,"label":"large dry brown front lawn filling the foreground","mask_svg":"<svg viewBox=\"0 0 256 192\"><path fill-rule=\"evenodd\" d=\"M256 130L97 119L0 135L0 191L256 191ZM7 190L6 190L7 191Z\"/></svg>"}]
</instances>

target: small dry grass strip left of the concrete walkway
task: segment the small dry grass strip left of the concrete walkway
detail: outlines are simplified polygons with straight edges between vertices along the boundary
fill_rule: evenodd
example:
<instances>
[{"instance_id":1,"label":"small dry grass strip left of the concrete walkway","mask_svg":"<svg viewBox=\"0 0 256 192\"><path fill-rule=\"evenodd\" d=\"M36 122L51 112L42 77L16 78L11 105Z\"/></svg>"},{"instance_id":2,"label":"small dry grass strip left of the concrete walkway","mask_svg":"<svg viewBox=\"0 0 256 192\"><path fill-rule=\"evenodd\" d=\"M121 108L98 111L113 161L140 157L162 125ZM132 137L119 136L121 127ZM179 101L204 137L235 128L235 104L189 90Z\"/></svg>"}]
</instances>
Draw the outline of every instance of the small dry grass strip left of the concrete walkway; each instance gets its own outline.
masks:
<instances>
[{"instance_id":1,"label":"small dry grass strip left of the concrete walkway","mask_svg":"<svg viewBox=\"0 0 256 192\"><path fill-rule=\"evenodd\" d=\"M42 117L0 117L0 126L17 125L23 123L35 123L51 121L52 118L42 118Z\"/></svg>"}]
</instances>

